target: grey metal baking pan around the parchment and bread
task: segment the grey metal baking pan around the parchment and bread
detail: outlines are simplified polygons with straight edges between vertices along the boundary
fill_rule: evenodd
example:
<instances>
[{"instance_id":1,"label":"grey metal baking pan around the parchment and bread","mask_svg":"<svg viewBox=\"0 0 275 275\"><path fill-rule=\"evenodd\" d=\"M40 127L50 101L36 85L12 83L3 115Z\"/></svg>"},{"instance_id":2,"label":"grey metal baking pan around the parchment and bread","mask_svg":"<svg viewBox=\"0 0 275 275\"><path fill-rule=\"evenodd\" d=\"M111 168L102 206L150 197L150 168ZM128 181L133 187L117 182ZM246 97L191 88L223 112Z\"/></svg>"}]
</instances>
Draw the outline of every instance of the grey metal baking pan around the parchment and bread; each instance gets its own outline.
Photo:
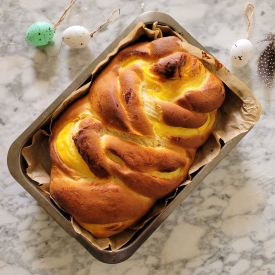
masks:
<instances>
[{"instance_id":1,"label":"grey metal baking pan around the parchment and bread","mask_svg":"<svg viewBox=\"0 0 275 275\"><path fill-rule=\"evenodd\" d=\"M133 22L54 100L54 102L12 143L7 155L8 169L16 181L18 181L27 192L29 192L38 203L63 227L63 229L77 239L96 259L105 263L118 263L129 258L138 247L152 234L152 232L168 217L168 215L192 192L192 190L203 180L203 178L217 165L217 163L237 144L247 133L242 133L222 145L218 155L208 164L199 169L193 176L192 181L180 187L175 197L168 201L166 208L158 215L150 219L134 236L121 248L116 251L110 249L99 250L93 246L84 236L76 233L72 228L68 214L62 212L55 206L54 202L46 193L37 187L37 182L31 180L26 174L26 161L21 154L23 147L31 144L33 134L40 128L48 125L51 115L57 106L75 89L90 80L90 74L94 67L111 52L135 25L142 21L149 25L155 21L167 25L177 33L181 34L190 44L199 47L209 53L200 45L182 26L180 26L169 15L149 11L136 17Z\"/></svg>"}]
</instances>

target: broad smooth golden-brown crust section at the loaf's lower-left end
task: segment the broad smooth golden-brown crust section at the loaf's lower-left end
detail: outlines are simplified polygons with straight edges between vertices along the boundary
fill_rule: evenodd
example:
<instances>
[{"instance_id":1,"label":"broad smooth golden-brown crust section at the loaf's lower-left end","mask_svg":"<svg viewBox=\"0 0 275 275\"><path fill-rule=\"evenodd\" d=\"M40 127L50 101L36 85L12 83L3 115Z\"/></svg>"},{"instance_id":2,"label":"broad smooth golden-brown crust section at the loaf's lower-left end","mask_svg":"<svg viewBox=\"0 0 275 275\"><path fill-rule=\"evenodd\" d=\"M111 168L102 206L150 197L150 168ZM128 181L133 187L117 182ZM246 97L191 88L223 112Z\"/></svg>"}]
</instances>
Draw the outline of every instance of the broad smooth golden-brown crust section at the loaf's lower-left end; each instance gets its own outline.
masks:
<instances>
[{"instance_id":1,"label":"broad smooth golden-brown crust section at the loaf's lower-left end","mask_svg":"<svg viewBox=\"0 0 275 275\"><path fill-rule=\"evenodd\" d=\"M132 192L117 179L75 181L55 165L51 169L50 193L72 216L96 224L140 218L155 201Z\"/></svg>"}]
</instances>

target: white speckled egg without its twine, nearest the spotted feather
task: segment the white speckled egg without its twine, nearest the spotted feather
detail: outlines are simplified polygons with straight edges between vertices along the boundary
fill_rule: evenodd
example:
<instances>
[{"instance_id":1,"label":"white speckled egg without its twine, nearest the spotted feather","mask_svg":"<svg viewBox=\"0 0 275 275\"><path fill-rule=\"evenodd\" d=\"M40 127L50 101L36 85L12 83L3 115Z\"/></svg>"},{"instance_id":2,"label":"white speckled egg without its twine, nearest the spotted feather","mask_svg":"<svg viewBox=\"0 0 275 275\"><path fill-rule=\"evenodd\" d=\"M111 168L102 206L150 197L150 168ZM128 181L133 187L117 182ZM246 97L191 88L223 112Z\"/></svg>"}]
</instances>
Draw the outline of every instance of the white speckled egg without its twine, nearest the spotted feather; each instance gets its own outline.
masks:
<instances>
[{"instance_id":1,"label":"white speckled egg without its twine, nearest the spotted feather","mask_svg":"<svg viewBox=\"0 0 275 275\"><path fill-rule=\"evenodd\" d=\"M253 45L248 39L239 39L231 47L230 59L235 67L244 66L251 57Z\"/></svg>"}]
</instances>

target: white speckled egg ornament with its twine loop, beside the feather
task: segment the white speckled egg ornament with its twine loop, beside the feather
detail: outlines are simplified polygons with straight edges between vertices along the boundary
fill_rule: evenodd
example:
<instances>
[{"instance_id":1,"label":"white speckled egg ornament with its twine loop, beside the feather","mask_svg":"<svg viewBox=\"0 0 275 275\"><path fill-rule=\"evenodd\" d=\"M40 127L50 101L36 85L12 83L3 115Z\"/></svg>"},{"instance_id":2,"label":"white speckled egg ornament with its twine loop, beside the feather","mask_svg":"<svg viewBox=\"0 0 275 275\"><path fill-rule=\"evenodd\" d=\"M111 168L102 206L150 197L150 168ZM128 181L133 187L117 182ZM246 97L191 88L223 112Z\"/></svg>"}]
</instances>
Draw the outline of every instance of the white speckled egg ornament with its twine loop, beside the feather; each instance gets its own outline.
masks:
<instances>
[{"instance_id":1,"label":"white speckled egg ornament with its twine loop, beside the feather","mask_svg":"<svg viewBox=\"0 0 275 275\"><path fill-rule=\"evenodd\" d=\"M249 18L247 15L248 7L252 8L252 12L251 12L251 15ZM232 45L231 50L230 50L230 60L231 60L232 65L235 67L244 66L245 64L248 63L248 61L251 58L251 54L253 51L253 45L248 40L248 38L249 38L249 32L250 32L250 21L251 21L251 17L253 15L253 13L254 13L254 6L252 4L246 4L245 16L248 21L246 38L237 40Z\"/></svg>"}]
</instances>

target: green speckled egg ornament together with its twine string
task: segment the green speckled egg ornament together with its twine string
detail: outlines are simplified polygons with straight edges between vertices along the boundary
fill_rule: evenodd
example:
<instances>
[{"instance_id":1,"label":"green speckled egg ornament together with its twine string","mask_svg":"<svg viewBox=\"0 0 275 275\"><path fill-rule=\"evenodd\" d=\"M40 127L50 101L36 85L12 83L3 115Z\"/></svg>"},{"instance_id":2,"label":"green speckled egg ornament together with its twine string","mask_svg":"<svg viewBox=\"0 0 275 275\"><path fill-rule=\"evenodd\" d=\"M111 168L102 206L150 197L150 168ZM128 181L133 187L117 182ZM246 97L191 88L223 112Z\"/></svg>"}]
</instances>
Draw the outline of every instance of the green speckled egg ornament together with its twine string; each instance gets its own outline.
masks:
<instances>
[{"instance_id":1,"label":"green speckled egg ornament together with its twine string","mask_svg":"<svg viewBox=\"0 0 275 275\"><path fill-rule=\"evenodd\" d=\"M33 46L44 46L51 42L56 31L56 27L63 21L68 9L74 2L75 0L70 0L69 5L54 25L43 21L31 24L26 31L26 41Z\"/></svg>"}]
</instances>

